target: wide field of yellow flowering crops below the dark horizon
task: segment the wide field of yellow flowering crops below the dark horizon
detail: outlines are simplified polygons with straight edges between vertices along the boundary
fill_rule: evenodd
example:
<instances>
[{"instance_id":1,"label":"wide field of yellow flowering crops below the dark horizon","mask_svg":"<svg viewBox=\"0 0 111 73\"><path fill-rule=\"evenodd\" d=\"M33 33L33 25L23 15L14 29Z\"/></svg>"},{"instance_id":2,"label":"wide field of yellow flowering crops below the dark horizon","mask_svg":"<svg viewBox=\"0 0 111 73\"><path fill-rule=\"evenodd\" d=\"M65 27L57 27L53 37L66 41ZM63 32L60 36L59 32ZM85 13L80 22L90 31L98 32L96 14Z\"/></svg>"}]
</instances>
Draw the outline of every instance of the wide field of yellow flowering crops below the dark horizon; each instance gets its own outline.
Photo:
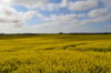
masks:
<instances>
[{"instance_id":1,"label":"wide field of yellow flowering crops below the dark horizon","mask_svg":"<svg viewBox=\"0 0 111 73\"><path fill-rule=\"evenodd\" d=\"M0 35L0 73L111 73L111 34Z\"/></svg>"}]
</instances>

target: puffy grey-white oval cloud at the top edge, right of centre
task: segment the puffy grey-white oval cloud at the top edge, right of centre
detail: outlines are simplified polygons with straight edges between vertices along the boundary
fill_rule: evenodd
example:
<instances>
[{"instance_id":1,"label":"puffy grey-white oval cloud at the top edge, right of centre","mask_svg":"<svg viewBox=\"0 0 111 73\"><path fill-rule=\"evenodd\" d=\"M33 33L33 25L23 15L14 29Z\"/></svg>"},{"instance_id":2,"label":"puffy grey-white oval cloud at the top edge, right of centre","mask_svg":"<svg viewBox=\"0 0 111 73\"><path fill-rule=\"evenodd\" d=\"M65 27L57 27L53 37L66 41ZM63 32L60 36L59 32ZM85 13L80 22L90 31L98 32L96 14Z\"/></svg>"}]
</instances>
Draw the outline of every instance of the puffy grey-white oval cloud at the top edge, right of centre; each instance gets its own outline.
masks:
<instances>
[{"instance_id":1,"label":"puffy grey-white oval cloud at the top edge, right of centre","mask_svg":"<svg viewBox=\"0 0 111 73\"><path fill-rule=\"evenodd\" d=\"M94 9L98 7L98 0L83 0L83 1L75 1L70 2L69 9L70 10L88 10Z\"/></svg>"}]
</instances>

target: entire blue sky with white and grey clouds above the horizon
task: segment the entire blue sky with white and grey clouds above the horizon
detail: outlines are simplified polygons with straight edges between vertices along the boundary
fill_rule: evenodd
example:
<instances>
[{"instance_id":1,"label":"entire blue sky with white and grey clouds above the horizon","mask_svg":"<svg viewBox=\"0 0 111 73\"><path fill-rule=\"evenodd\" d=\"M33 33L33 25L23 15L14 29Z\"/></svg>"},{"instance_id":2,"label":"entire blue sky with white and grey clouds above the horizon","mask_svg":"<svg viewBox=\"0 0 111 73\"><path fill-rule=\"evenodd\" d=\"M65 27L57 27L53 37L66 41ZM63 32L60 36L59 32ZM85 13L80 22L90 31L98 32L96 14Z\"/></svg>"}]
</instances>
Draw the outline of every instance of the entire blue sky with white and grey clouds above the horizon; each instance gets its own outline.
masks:
<instances>
[{"instance_id":1,"label":"entire blue sky with white and grey clouds above the horizon","mask_svg":"<svg viewBox=\"0 0 111 73\"><path fill-rule=\"evenodd\" d=\"M0 0L0 33L111 32L111 0Z\"/></svg>"}]
</instances>

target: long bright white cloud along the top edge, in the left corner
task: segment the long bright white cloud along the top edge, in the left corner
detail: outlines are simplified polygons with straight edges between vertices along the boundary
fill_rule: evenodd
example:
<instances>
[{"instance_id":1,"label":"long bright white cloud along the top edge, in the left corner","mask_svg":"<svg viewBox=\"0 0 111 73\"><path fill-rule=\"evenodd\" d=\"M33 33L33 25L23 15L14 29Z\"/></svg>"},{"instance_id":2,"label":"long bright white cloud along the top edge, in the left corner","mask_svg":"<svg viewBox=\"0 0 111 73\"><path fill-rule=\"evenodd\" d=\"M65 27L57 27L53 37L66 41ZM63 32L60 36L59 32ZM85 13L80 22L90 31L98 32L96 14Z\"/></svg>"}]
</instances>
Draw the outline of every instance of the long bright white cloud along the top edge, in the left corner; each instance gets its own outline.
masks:
<instances>
[{"instance_id":1,"label":"long bright white cloud along the top edge, in the left corner","mask_svg":"<svg viewBox=\"0 0 111 73\"><path fill-rule=\"evenodd\" d=\"M28 9L44 9L48 4L47 0L0 0L0 4L6 6L23 6Z\"/></svg>"}]
</instances>

